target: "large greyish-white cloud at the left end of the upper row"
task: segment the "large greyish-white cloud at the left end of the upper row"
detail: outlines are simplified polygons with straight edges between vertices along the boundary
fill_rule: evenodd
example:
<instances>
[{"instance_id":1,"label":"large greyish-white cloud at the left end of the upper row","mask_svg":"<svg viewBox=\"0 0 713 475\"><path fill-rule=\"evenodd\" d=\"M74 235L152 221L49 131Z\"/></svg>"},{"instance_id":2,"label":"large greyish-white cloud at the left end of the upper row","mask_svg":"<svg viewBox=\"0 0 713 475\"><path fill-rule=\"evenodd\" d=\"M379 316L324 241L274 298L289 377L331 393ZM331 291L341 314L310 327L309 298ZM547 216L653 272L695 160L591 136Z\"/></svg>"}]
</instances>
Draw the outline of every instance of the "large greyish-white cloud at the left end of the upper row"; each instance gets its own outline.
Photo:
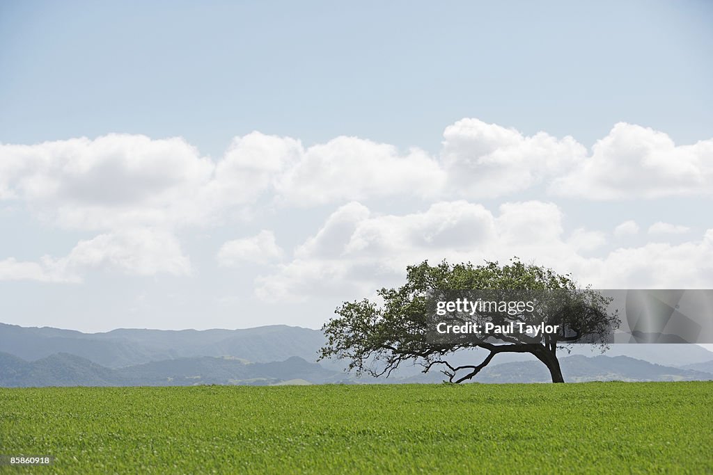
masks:
<instances>
[{"instance_id":1,"label":"large greyish-white cloud at the left end of the upper row","mask_svg":"<svg viewBox=\"0 0 713 475\"><path fill-rule=\"evenodd\" d=\"M212 164L185 140L111 134L0 145L0 189L46 221L71 229L121 229L192 221Z\"/></svg>"}]
</instances>

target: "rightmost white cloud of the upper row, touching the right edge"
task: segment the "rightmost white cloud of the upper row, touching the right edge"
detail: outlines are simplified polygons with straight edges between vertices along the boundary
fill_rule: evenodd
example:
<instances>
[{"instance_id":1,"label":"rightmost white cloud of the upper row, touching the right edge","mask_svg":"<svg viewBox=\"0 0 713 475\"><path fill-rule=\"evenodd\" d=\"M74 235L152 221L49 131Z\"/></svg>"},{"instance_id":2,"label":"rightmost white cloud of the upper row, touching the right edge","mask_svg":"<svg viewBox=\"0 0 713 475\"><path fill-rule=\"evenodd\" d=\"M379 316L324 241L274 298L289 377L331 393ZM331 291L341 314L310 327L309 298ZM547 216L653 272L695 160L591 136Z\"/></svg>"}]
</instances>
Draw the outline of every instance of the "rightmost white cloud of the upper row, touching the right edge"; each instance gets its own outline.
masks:
<instances>
[{"instance_id":1,"label":"rightmost white cloud of the upper row, touching the right edge","mask_svg":"<svg viewBox=\"0 0 713 475\"><path fill-rule=\"evenodd\" d=\"M587 199L712 196L713 139L675 145L663 132L620 122L550 192Z\"/></svg>"}]
</instances>

